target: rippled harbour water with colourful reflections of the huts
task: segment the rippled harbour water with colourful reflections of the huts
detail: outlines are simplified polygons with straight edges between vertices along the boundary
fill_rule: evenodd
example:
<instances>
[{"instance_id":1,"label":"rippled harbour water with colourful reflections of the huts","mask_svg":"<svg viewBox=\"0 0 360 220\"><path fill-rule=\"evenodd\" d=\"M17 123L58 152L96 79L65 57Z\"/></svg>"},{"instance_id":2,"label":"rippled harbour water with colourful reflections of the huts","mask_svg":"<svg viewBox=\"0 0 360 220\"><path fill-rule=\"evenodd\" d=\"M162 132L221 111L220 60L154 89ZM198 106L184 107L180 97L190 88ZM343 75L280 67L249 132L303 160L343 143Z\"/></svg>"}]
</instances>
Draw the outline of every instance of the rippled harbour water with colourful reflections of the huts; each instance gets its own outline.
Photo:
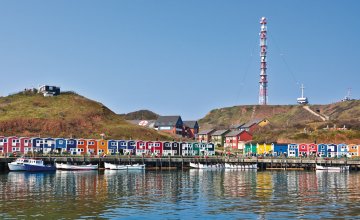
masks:
<instances>
[{"instance_id":1,"label":"rippled harbour water with colourful reflections of the huts","mask_svg":"<svg viewBox=\"0 0 360 220\"><path fill-rule=\"evenodd\" d=\"M10 172L0 219L356 218L359 184L358 172Z\"/></svg>"}]
</instances>

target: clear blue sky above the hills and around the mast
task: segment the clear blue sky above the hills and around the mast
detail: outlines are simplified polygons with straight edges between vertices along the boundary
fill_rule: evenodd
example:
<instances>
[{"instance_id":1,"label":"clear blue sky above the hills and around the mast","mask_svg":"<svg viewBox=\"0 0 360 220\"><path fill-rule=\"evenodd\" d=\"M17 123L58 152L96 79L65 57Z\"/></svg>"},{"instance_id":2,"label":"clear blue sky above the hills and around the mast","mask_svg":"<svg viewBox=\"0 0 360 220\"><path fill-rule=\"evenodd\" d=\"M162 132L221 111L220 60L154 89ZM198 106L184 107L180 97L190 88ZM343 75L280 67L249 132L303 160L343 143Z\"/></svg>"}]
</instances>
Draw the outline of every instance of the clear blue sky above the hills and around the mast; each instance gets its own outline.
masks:
<instances>
[{"instance_id":1,"label":"clear blue sky above the hills and around the mast","mask_svg":"<svg viewBox=\"0 0 360 220\"><path fill-rule=\"evenodd\" d=\"M0 95L58 85L114 112L199 119L257 104L268 18L270 104L360 96L360 1L0 1Z\"/></svg>"}]
</instances>

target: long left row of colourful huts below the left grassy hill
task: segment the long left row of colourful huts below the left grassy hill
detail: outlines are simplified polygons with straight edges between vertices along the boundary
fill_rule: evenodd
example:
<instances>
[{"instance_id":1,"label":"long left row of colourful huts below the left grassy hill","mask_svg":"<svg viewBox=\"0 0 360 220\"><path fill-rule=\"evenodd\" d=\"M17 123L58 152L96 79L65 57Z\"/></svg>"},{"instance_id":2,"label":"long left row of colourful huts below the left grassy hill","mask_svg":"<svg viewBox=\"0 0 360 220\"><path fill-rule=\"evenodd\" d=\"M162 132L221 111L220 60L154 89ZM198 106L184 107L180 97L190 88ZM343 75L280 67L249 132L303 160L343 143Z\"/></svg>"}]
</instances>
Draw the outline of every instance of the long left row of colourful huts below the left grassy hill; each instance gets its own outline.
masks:
<instances>
[{"instance_id":1,"label":"long left row of colourful huts below the left grassy hill","mask_svg":"<svg viewBox=\"0 0 360 220\"><path fill-rule=\"evenodd\" d=\"M213 143L0 136L0 154L38 152L71 155L215 155Z\"/></svg>"}]
</instances>

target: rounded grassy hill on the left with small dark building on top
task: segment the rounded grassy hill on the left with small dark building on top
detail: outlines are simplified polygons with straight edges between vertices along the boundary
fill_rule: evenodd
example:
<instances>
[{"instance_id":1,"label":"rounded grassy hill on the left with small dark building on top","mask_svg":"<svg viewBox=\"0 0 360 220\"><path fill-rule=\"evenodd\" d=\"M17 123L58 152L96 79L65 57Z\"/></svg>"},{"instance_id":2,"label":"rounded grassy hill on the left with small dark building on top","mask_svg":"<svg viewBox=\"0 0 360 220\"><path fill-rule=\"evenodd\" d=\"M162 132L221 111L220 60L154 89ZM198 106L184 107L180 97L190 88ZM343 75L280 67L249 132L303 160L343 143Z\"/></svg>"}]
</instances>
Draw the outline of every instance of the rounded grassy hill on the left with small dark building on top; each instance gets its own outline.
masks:
<instances>
[{"instance_id":1,"label":"rounded grassy hill on the left with small dark building on top","mask_svg":"<svg viewBox=\"0 0 360 220\"><path fill-rule=\"evenodd\" d=\"M127 123L99 102L73 92L44 97L21 92L0 98L0 135L144 140L173 139L167 134Z\"/></svg>"}]
</instances>

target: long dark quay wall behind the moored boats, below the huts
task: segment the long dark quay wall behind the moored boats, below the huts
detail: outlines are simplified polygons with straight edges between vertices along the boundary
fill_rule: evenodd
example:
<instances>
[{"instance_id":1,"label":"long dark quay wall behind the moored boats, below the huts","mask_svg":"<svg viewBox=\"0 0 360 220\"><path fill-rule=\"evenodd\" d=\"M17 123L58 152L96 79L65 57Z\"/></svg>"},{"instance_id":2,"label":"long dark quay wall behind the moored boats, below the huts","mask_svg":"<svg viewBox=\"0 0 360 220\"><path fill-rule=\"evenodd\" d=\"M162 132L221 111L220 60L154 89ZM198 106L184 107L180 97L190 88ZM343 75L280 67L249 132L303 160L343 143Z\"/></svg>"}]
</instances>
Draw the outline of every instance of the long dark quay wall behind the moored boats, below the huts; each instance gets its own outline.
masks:
<instances>
[{"instance_id":1,"label":"long dark quay wall behind the moored boats, below the huts","mask_svg":"<svg viewBox=\"0 0 360 220\"><path fill-rule=\"evenodd\" d=\"M187 169L190 162L203 164L232 163L232 164L258 164L260 170L281 169L281 170L314 170L316 164L326 166L349 165L350 170L360 170L360 160L328 159L328 158L242 158L242 157L38 157L43 159L46 164L55 162L71 164L100 164L104 167L104 162L116 164L146 164L147 169ZM0 171L7 171L7 163L16 158L0 158Z\"/></svg>"}]
</instances>

